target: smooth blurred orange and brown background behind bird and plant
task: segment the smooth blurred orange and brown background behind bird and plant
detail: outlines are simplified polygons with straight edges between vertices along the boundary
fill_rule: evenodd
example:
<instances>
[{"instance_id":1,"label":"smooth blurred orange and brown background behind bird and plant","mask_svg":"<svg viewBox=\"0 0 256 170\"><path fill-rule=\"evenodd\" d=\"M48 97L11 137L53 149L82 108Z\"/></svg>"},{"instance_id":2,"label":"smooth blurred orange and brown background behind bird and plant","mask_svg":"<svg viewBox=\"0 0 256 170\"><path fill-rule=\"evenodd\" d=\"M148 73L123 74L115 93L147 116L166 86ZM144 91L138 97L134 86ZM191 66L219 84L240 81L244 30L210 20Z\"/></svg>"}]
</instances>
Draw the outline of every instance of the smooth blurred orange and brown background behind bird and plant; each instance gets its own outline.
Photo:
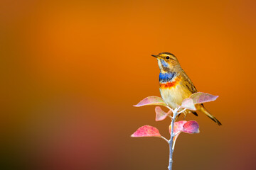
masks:
<instances>
[{"instance_id":1,"label":"smooth blurred orange and brown background behind bird and plant","mask_svg":"<svg viewBox=\"0 0 256 170\"><path fill-rule=\"evenodd\" d=\"M255 1L0 2L0 169L167 169L169 147L132 138L155 122L172 52L198 91L220 96L201 132L176 142L174 169L256 169Z\"/></svg>"}]
</instances>

